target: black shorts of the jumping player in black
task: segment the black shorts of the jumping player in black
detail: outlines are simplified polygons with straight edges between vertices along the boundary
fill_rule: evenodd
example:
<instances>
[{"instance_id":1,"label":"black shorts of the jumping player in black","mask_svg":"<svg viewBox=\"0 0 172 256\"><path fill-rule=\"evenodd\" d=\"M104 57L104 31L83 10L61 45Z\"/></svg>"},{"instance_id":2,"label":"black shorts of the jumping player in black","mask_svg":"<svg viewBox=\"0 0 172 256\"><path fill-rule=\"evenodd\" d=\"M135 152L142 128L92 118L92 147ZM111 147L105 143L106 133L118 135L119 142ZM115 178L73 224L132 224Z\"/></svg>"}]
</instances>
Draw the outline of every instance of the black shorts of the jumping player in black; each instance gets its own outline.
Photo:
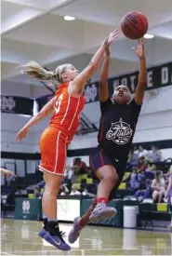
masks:
<instances>
[{"instance_id":1,"label":"black shorts of the jumping player in black","mask_svg":"<svg viewBox=\"0 0 172 256\"><path fill-rule=\"evenodd\" d=\"M99 148L89 155L89 164L90 167L93 168L95 174L96 171L106 165L111 165L116 169L116 173L118 175L118 182L115 184L115 186L112 188L112 193L109 197L109 199L112 199L115 197L115 191L119 187L120 183L123 181L123 177L126 172L126 159L117 158L117 157L110 157L109 155L106 155L103 150L100 150Z\"/></svg>"}]
</instances>

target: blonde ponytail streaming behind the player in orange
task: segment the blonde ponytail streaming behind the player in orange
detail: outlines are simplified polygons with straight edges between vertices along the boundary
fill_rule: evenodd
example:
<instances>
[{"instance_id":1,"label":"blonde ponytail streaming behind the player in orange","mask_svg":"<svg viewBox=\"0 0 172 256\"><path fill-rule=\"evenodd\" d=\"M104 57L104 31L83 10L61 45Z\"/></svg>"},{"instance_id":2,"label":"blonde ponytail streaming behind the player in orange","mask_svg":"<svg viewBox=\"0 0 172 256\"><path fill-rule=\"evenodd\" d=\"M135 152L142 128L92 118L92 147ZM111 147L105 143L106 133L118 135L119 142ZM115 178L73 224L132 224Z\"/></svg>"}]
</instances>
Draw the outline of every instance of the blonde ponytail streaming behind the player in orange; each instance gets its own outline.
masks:
<instances>
[{"instance_id":1,"label":"blonde ponytail streaming behind the player in orange","mask_svg":"<svg viewBox=\"0 0 172 256\"><path fill-rule=\"evenodd\" d=\"M22 74L28 74L33 78L37 78L40 80L54 80L56 79L56 74L51 71L46 71L43 67L41 67L35 61L29 61L25 65L20 66L23 70ZM58 80L58 79L57 79Z\"/></svg>"}]
</instances>

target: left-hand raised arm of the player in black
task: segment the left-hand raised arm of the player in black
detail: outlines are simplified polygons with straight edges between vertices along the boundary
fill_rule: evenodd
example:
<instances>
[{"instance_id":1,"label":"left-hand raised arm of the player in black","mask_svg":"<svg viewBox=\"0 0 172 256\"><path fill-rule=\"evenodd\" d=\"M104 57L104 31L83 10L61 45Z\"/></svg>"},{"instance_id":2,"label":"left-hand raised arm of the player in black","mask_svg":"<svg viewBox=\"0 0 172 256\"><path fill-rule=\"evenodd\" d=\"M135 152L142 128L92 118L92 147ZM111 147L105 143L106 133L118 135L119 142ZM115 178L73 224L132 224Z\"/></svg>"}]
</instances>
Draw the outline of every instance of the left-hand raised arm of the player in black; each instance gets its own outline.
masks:
<instances>
[{"instance_id":1,"label":"left-hand raised arm of the player in black","mask_svg":"<svg viewBox=\"0 0 172 256\"><path fill-rule=\"evenodd\" d=\"M108 88L108 71L110 65L110 48L106 47L106 56L102 64L100 79L99 79L99 101L107 101L109 98L109 88Z\"/></svg>"}]
</instances>

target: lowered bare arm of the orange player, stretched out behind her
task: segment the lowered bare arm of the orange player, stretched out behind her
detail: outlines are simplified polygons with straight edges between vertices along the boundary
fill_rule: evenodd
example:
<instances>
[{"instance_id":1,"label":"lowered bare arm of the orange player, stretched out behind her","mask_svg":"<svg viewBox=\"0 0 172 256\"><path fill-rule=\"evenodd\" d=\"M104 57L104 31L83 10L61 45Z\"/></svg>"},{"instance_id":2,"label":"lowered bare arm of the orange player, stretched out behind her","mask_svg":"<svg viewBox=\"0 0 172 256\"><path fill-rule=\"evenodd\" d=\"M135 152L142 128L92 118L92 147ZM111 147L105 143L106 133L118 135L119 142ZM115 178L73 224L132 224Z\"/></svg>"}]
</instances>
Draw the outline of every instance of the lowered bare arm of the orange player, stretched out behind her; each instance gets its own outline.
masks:
<instances>
[{"instance_id":1,"label":"lowered bare arm of the orange player, stretched out behind her","mask_svg":"<svg viewBox=\"0 0 172 256\"><path fill-rule=\"evenodd\" d=\"M46 118L54 109L54 98L46 103L46 105L42 108L42 110L37 114L34 115L29 122L20 129L20 132L17 135L17 141L21 141L24 137L26 137L27 133L29 132L29 128L33 127L42 119Z\"/></svg>"}]
</instances>

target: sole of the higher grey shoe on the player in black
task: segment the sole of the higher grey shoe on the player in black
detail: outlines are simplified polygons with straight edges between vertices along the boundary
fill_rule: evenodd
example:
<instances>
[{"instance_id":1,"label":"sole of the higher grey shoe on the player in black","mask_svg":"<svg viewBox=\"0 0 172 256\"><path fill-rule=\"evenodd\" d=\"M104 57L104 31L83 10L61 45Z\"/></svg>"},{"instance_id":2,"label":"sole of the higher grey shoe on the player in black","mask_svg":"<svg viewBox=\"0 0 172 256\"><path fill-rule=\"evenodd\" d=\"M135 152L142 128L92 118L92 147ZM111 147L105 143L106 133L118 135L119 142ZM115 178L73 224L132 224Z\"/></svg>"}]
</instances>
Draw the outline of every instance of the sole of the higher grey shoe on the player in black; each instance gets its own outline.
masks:
<instances>
[{"instance_id":1,"label":"sole of the higher grey shoe on the player in black","mask_svg":"<svg viewBox=\"0 0 172 256\"><path fill-rule=\"evenodd\" d=\"M93 214L89 217L90 222L99 222L102 219L111 219L114 215L116 215L116 209L103 209L99 211L98 214Z\"/></svg>"}]
</instances>

